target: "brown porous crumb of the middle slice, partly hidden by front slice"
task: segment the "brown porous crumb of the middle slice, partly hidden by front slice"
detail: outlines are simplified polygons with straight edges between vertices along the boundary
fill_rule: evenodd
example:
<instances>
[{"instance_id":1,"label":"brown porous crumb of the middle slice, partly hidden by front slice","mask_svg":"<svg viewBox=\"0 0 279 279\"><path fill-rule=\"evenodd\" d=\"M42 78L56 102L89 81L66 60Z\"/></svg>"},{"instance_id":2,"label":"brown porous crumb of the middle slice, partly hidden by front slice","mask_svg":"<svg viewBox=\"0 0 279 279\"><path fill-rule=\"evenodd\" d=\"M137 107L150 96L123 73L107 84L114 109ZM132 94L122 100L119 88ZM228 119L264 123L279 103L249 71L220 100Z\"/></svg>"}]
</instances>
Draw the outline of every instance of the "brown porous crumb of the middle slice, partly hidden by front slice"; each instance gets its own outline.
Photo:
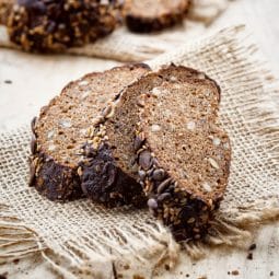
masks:
<instances>
[{"instance_id":1,"label":"brown porous crumb of the middle slice, partly hidden by front slice","mask_svg":"<svg viewBox=\"0 0 279 279\"><path fill-rule=\"evenodd\" d=\"M137 123L139 121L139 114L137 104L140 102L140 94L144 91L160 85L163 79L173 79L175 82L188 80L189 78L205 79L205 74L195 71L193 69L171 67L174 75L168 77L167 71L161 72L162 74L149 73L139 81L130 84L121 92L121 97L116 101L113 116L104 124L106 129L106 136L108 138L107 143L113 149L114 158L117 159L118 165L124 172L137 178L137 170L135 165L135 149L133 138ZM183 69L183 70L181 70ZM196 82L196 80L193 80ZM209 79L206 80L208 86L212 88L212 92L216 95L216 107L219 104L219 89L214 86L213 82Z\"/></svg>"}]
</instances>

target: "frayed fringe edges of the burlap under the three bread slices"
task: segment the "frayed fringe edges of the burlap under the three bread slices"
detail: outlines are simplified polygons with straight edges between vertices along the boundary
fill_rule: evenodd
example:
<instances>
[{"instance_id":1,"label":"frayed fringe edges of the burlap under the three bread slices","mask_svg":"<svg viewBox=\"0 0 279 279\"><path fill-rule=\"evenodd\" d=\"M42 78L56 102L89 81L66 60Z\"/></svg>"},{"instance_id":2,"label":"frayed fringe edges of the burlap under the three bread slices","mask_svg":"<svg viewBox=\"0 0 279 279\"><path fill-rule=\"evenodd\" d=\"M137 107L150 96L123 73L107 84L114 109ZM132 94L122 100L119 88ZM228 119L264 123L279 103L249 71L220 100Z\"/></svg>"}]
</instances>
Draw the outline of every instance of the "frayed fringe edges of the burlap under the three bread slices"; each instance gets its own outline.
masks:
<instances>
[{"instance_id":1,"label":"frayed fringe edges of the burlap under the three bread slices","mask_svg":"<svg viewBox=\"0 0 279 279\"><path fill-rule=\"evenodd\" d=\"M221 31L217 36L223 36L222 39L220 39L220 44L234 42L236 37L237 39L242 39L243 26ZM207 39L205 39L202 44L206 44L206 42ZM210 38L208 42L210 42ZM199 45L201 42L197 42L196 44ZM181 50L177 50L176 55L167 54L162 58L151 61L150 65L153 68L158 68L160 65L168 63L170 61L179 63L179 61L183 60L183 54L187 53L193 47L197 48L197 45L189 45L188 47L182 48ZM246 61L247 63L252 62L254 66L259 65L259 60L255 55L255 46L243 43L237 51L240 51L239 55L249 56L249 59ZM172 58L172 60L170 60L170 58ZM255 63L255 61L257 62ZM263 63L260 63L260 69L263 69ZM253 67L251 67L251 69L253 72L246 72L246 75L251 74L251 80L253 82L255 72ZM235 72L237 73L237 69L235 69ZM258 137L258 139L260 139L261 144L265 146L266 150L268 151L266 155L268 155L272 161L275 170L278 170L278 117L275 115L275 112L267 108L267 105L263 105L263 103L268 104L268 102L271 102L271 98L277 96L278 91L276 91L276 81L270 78L271 75L269 71L261 72L263 84L268 84L268 89L265 91L265 100L259 100L257 96L252 96L248 104L245 104L246 108L243 112L245 120L253 128L253 132ZM10 260L15 257L25 257L30 254L40 253L42 256L53 266L53 268L62 274L66 278L77 278L84 272L89 272L89 268L91 267L90 263L84 263L80 267L73 266L72 268L57 264L57 259L61 259L61 255L59 253L56 254L55 251L49 251L49 248L44 245L44 242L36 234L36 232L30 228L26 228L21 220L12 214L7 206L1 205L0 209L0 260ZM207 253L210 251L210 246L243 246L253 239L255 226L259 228L259 224L276 220L278 218L278 196L268 200L256 200L254 202L243 205L242 207L237 207L235 210L223 210L217 213L216 220L212 223L212 230L210 231L205 243L183 243L182 248L186 251L190 257L197 259L207 255ZM156 263L154 263L154 266L167 261L171 267L174 267L179 254L178 245L170 236L170 233L163 228L162 231L158 230L156 233L156 237L160 241L158 241L158 243L154 242L153 246L149 246L149 252L141 254L138 259L142 260L142 264L144 264L148 258L152 258L154 255L156 255ZM112 255L112 257L107 258L107 260L114 263L114 260L117 260L117 258Z\"/></svg>"}]
</instances>

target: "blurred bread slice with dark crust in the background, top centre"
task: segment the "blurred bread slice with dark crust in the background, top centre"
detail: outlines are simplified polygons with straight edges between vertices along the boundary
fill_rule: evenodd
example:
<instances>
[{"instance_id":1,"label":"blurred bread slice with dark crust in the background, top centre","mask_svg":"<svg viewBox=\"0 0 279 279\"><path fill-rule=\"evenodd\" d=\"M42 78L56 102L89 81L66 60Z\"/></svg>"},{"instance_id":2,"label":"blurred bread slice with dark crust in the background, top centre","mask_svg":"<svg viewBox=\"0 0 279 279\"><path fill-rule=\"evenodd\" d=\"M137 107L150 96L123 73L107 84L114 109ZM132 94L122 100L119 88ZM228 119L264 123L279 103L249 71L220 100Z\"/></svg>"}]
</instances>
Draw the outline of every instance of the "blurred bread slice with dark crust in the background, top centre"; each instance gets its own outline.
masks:
<instances>
[{"instance_id":1,"label":"blurred bread slice with dark crust in the background, top centre","mask_svg":"<svg viewBox=\"0 0 279 279\"><path fill-rule=\"evenodd\" d=\"M190 0L128 0L124 13L126 24L132 32L161 31L181 23L190 5Z\"/></svg>"}]
</instances>

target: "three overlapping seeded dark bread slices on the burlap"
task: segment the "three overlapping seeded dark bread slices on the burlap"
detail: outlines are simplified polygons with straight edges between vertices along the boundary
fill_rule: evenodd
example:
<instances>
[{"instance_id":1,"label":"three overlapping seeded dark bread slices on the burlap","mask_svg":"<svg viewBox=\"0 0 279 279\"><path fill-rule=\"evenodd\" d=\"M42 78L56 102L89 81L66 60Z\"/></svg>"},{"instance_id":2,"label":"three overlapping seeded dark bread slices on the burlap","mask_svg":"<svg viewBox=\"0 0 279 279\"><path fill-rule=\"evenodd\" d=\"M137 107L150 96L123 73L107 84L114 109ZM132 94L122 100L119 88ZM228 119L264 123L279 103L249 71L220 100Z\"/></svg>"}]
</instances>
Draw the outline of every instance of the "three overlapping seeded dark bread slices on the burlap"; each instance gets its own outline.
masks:
<instances>
[{"instance_id":1,"label":"three overlapping seeded dark bread slices on the burlap","mask_svg":"<svg viewBox=\"0 0 279 279\"><path fill-rule=\"evenodd\" d=\"M202 239L230 172L220 94L175 65L86 74L33 119L30 185L51 200L148 205L177 241Z\"/></svg>"}]
</instances>

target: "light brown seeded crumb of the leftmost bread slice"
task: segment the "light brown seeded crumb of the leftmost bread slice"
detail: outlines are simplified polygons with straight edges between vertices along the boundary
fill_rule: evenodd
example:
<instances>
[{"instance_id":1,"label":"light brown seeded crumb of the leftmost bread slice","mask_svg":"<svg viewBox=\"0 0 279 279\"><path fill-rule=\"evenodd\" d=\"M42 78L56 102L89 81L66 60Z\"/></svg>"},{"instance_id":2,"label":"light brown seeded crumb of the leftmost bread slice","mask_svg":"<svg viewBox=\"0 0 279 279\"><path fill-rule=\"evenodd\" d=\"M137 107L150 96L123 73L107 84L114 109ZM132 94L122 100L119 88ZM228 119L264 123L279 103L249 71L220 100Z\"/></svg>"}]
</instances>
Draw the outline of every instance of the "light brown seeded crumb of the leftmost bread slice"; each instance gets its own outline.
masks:
<instances>
[{"instance_id":1,"label":"light brown seeded crumb of the leftmost bread slice","mask_svg":"<svg viewBox=\"0 0 279 279\"><path fill-rule=\"evenodd\" d=\"M146 71L141 67L121 67L104 73L91 73L71 82L42 109L36 124L37 144L57 162L74 167L88 128L120 90Z\"/></svg>"}]
</instances>

